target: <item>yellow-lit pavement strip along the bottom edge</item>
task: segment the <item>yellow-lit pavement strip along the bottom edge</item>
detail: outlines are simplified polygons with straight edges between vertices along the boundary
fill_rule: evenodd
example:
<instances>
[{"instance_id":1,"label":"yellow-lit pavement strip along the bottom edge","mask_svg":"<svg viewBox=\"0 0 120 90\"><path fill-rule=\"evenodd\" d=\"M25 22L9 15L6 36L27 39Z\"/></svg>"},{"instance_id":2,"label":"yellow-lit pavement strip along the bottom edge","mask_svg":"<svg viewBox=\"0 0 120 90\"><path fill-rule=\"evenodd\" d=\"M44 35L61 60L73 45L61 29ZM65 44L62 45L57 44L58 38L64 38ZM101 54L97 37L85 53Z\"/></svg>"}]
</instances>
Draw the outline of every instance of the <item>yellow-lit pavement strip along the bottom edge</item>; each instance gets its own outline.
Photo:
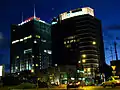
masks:
<instances>
[{"instance_id":1,"label":"yellow-lit pavement strip along the bottom edge","mask_svg":"<svg viewBox=\"0 0 120 90\"><path fill-rule=\"evenodd\" d=\"M0 90L8 90L6 87L0 88ZM12 89L12 90L23 90L23 89ZM66 88L39 88L39 89L24 89L24 90L67 90ZM106 87L103 88L102 86L85 86L85 87L79 87L79 88L71 88L68 90L120 90L119 87L111 88L111 87Z\"/></svg>"}]
</instances>

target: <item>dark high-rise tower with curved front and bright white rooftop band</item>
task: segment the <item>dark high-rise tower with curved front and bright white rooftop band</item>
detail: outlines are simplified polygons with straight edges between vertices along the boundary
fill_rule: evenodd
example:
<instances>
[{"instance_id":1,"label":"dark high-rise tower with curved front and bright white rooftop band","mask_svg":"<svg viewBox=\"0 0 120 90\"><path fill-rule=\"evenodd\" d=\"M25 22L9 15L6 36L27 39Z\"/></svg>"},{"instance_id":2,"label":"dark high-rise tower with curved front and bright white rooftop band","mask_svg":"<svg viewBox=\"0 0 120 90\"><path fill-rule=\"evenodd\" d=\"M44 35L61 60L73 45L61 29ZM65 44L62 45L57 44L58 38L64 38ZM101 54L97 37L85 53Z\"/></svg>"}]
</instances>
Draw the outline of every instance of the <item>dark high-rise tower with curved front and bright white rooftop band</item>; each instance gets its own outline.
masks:
<instances>
[{"instance_id":1,"label":"dark high-rise tower with curved front and bright white rooftop band","mask_svg":"<svg viewBox=\"0 0 120 90\"><path fill-rule=\"evenodd\" d=\"M101 21L90 7L60 14L52 20L52 62L82 66L85 74L95 76L105 64Z\"/></svg>"}]
</instances>

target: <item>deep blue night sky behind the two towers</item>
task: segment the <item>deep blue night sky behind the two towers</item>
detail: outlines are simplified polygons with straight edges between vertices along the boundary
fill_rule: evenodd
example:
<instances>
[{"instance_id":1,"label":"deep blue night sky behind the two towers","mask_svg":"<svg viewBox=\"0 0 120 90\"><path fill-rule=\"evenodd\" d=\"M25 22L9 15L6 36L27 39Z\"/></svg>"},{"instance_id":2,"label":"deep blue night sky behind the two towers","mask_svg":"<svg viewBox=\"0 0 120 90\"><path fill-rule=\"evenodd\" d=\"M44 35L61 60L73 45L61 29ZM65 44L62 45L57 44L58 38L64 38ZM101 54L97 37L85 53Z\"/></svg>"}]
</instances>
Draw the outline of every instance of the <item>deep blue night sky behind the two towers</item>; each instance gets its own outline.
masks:
<instances>
[{"instance_id":1,"label":"deep blue night sky behind the two towers","mask_svg":"<svg viewBox=\"0 0 120 90\"><path fill-rule=\"evenodd\" d=\"M107 64L112 59L110 44L117 37L117 48L120 59L120 1L119 0L1 0L0 1L0 64L9 68L10 61L10 25L21 23L22 12L24 20L33 16L33 7L36 7L36 16L50 22L58 14L76 8L91 7L95 16L102 20L102 30L105 43L105 57Z\"/></svg>"}]
</instances>

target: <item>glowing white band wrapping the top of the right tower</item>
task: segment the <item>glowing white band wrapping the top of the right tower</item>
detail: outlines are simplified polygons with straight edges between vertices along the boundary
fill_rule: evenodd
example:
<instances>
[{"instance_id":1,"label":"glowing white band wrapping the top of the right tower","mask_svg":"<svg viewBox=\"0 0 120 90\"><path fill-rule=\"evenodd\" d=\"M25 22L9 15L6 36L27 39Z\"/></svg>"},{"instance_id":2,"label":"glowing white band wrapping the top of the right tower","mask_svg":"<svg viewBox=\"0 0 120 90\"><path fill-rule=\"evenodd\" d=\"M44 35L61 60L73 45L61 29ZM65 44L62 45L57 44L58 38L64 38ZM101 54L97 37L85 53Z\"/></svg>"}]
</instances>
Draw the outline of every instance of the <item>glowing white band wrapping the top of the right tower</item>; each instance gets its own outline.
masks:
<instances>
[{"instance_id":1,"label":"glowing white band wrapping the top of the right tower","mask_svg":"<svg viewBox=\"0 0 120 90\"><path fill-rule=\"evenodd\" d=\"M69 11L69 13L65 12L65 13L60 14L60 18L61 18L61 20L64 20L64 19L67 19L67 18L80 16L80 15L85 15L85 14L89 14L91 16L94 16L94 10L90 7L82 8L82 10L76 11L76 12L72 12L72 10L71 10L71 11Z\"/></svg>"}]
</instances>

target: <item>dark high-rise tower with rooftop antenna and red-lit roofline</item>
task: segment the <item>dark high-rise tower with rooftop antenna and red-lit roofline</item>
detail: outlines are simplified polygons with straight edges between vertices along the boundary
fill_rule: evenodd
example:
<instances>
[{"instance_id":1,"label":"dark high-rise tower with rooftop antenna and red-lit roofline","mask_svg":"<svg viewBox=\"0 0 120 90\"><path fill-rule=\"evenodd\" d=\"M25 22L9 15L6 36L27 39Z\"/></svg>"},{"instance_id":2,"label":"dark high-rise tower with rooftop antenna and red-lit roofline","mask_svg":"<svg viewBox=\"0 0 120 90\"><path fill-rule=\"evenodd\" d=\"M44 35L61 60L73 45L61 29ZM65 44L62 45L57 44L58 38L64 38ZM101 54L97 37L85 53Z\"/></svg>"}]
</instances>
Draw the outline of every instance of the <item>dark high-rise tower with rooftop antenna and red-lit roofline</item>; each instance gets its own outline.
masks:
<instances>
[{"instance_id":1,"label":"dark high-rise tower with rooftop antenna and red-lit roofline","mask_svg":"<svg viewBox=\"0 0 120 90\"><path fill-rule=\"evenodd\" d=\"M11 73L51 65L51 26L37 17L11 26Z\"/></svg>"}]
</instances>

